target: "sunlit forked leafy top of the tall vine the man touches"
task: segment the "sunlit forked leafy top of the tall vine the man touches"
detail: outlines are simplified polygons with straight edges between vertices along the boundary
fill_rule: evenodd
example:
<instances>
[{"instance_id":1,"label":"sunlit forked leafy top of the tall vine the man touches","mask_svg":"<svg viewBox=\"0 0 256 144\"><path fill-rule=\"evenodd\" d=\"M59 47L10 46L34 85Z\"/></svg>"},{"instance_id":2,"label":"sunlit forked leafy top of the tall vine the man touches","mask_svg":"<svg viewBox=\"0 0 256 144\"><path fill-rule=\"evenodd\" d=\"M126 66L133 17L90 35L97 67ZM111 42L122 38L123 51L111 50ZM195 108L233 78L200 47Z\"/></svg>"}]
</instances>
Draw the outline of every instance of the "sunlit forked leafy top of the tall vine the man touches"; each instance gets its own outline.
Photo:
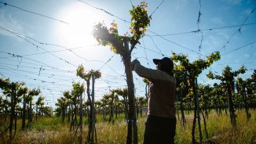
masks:
<instances>
[{"instance_id":1,"label":"sunlit forked leafy top of the tall vine the man touches","mask_svg":"<svg viewBox=\"0 0 256 144\"><path fill-rule=\"evenodd\" d=\"M144 36L146 28L149 26L151 18L148 17L147 7L148 4L141 2L141 5L137 5L133 7L133 9L130 9L131 37L119 35L117 23L112 22L112 27L109 29L104 23L97 23L93 30L94 38L96 38L101 45L109 45L113 52L125 56L126 53L133 50L135 45L139 42L139 39ZM126 41L130 42L131 49L127 49L126 46L123 45Z\"/></svg>"}]
</instances>

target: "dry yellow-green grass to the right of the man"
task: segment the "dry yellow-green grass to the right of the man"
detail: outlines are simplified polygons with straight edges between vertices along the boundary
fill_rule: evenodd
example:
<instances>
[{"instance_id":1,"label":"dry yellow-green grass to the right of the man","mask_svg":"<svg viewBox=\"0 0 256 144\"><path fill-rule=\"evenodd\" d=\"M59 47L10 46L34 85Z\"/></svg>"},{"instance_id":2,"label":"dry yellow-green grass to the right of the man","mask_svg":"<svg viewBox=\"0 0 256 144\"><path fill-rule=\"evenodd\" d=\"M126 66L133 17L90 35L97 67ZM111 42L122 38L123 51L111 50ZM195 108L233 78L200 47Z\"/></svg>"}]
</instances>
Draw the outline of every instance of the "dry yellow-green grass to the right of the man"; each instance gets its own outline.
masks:
<instances>
[{"instance_id":1,"label":"dry yellow-green grass to the right of the man","mask_svg":"<svg viewBox=\"0 0 256 144\"><path fill-rule=\"evenodd\" d=\"M251 110L250 110L251 111ZM210 113L207 119L207 132L209 139L204 131L203 120L201 121L201 130L203 133L203 143L256 143L256 111L251 111L251 119L247 121L244 111L236 112L236 127L232 127L229 114L218 116L216 113ZM201 119L203 119L201 117ZM177 124L176 143L192 142L192 118L186 117L187 125L185 128ZM196 126L196 140L199 141L199 131Z\"/></svg>"}]
</instances>

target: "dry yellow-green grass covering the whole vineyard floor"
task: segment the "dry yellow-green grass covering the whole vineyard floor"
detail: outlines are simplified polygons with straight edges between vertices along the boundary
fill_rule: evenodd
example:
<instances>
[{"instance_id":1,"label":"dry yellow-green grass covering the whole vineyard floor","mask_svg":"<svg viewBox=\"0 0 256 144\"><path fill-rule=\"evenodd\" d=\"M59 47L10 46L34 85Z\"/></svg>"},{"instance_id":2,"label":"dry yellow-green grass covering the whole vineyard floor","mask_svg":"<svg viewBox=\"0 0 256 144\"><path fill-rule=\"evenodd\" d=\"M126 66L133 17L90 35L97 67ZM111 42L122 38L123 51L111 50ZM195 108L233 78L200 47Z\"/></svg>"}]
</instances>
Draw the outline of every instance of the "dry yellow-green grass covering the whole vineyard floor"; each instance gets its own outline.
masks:
<instances>
[{"instance_id":1,"label":"dry yellow-green grass covering the whole vineyard floor","mask_svg":"<svg viewBox=\"0 0 256 144\"><path fill-rule=\"evenodd\" d=\"M247 121L244 111L237 111L237 125L232 127L229 115L222 114L218 116L211 112L207 119L207 131L209 139L206 139L203 129L203 143L256 143L256 110L250 110L251 119ZM125 143L127 124L120 115L114 123L108 123L102 120L102 116L97 116L97 142L98 143ZM177 118L176 143L191 143L192 113L185 115L187 124L181 127ZM145 115L139 118L137 122L138 140L143 142ZM86 122L86 120L85 120ZM30 129L20 131L20 121L18 121L18 131L12 143L78 143L78 135L75 131L69 130L69 124L61 123L60 117L41 117L38 122L34 122ZM86 142L88 134L87 125L84 124L82 132L83 143ZM0 137L0 143L10 143L8 135ZM199 141L198 127L196 127L196 140Z\"/></svg>"}]
</instances>

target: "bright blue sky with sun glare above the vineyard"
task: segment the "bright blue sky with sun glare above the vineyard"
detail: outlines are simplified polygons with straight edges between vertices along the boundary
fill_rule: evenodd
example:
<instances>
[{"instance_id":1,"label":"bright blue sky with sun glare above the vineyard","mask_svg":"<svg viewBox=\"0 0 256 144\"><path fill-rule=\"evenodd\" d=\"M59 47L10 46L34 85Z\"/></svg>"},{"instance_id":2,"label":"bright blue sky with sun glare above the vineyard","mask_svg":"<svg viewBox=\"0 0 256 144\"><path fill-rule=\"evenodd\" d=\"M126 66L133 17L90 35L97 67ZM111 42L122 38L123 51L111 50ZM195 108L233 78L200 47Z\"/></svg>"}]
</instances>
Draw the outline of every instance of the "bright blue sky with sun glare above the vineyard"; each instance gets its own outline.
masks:
<instances>
[{"instance_id":1,"label":"bright blue sky with sun glare above the vineyard","mask_svg":"<svg viewBox=\"0 0 256 144\"><path fill-rule=\"evenodd\" d=\"M30 89L40 88L47 106L54 106L64 91L71 90L73 81L84 82L76 77L79 64L86 71L101 71L95 83L95 99L112 89L126 88L120 56L108 46L98 45L92 30L96 23L109 27L115 21L119 34L126 34L129 9L140 2L0 0L0 77L24 81ZM256 66L255 0L145 2L152 20L141 45L133 50L132 59L155 69L152 59L170 57L171 52L188 55L192 62L220 51L221 59L203 70L199 84L219 82L207 79L206 74L209 70L221 74L227 65L232 70L244 65L247 72L240 77L251 77ZM141 77L133 73L133 79L136 96L144 96Z\"/></svg>"}]
</instances>

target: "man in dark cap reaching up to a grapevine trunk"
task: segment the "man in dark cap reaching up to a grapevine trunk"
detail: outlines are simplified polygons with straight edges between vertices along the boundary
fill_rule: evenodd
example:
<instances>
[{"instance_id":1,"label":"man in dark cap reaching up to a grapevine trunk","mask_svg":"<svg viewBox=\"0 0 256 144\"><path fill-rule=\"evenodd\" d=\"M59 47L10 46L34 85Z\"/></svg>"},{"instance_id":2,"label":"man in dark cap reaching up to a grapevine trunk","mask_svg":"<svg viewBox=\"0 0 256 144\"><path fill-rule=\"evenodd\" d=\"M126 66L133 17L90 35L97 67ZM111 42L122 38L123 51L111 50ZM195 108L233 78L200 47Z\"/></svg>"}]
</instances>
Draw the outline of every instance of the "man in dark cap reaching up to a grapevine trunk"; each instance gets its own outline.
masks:
<instances>
[{"instance_id":1,"label":"man in dark cap reaching up to a grapevine trunk","mask_svg":"<svg viewBox=\"0 0 256 144\"><path fill-rule=\"evenodd\" d=\"M153 62L157 70L141 66L137 59L131 63L132 69L139 76L150 81L144 144L170 144L174 143L176 128L174 63L167 57L153 59Z\"/></svg>"}]
</instances>

